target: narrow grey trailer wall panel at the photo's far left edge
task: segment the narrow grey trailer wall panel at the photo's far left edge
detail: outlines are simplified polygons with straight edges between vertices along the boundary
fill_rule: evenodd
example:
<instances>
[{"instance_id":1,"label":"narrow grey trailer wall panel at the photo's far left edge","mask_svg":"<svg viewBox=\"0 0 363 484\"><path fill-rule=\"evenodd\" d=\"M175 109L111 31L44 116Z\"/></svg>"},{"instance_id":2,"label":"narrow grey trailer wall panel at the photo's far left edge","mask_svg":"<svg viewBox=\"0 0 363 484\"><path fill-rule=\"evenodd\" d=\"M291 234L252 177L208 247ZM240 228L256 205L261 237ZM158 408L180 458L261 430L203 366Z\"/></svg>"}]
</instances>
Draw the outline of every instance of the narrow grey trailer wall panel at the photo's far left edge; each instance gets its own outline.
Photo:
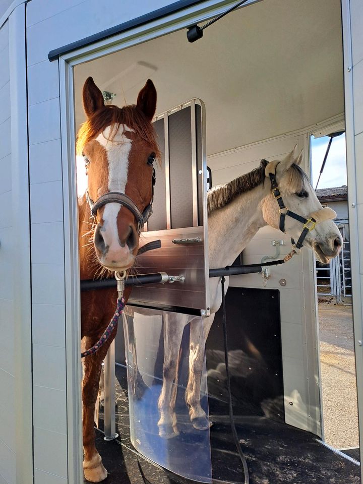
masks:
<instances>
[{"instance_id":1,"label":"narrow grey trailer wall panel at the photo's far left edge","mask_svg":"<svg viewBox=\"0 0 363 484\"><path fill-rule=\"evenodd\" d=\"M0 29L0 481L15 484L14 268L8 22Z\"/></svg>"}]
</instances>

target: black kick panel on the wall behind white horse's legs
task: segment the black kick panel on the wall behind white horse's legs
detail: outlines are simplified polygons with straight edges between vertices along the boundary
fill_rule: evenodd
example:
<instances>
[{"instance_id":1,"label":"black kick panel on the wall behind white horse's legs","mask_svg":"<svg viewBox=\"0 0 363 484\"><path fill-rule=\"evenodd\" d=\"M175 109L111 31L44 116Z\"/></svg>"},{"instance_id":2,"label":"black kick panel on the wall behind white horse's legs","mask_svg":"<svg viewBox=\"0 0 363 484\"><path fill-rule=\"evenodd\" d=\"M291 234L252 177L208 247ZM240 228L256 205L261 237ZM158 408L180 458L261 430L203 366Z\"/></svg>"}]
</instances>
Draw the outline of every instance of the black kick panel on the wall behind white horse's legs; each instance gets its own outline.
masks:
<instances>
[{"instance_id":1,"label":"black kick panel on the wall behind white horse's legs","mask_svg":"<svg viewBox=\"0 0 363 484\"><path fill-rule=\"evenodd\" d=\"M268 413L284 421L279 291L229 287L226 312L235 414ZM207 339L206 357L210 412L226 413L221 309Z\"/></svg>"}]
</instances>

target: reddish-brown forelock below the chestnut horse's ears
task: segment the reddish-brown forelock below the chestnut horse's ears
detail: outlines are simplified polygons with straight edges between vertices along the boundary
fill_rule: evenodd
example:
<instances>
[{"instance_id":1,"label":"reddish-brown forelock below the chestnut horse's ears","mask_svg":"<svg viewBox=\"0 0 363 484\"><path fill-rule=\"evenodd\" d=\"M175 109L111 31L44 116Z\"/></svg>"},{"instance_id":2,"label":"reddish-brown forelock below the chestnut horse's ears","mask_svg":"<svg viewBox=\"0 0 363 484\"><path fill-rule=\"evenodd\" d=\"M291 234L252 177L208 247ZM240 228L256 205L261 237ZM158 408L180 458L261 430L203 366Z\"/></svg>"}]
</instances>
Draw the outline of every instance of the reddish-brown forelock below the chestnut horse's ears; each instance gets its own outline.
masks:
<instances>
[{"instance_id":1,"label":"reddish-brown forelock below the chestnut horse's ears","mask_svg":"<svg viewBox=\"0 0 363 484\"><path fill-rule=\"evenodd\" d=\"M159 150L156 143L156 133L153 125L146 119L144 113L136 105L105 106L98 109L83 125L77 133L77 154L81 154L84 146L96 138L107 126L111 126L111 139L117 133L119 125L124 124L135 131L137 138L141 138L150 144L159 158Z\"/></svg>"}]
</instances>

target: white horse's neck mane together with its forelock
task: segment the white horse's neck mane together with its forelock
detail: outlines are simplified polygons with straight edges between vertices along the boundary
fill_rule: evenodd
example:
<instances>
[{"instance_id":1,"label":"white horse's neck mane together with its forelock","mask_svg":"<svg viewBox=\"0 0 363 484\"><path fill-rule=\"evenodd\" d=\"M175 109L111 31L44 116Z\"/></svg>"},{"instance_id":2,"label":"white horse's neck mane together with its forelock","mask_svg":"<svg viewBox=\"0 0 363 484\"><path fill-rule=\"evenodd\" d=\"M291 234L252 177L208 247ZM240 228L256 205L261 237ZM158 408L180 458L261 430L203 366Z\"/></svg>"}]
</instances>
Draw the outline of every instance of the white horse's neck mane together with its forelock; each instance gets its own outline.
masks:
<instances>
[{"instance_id":1,"label":"white horse's neck mane together with its forelock","mask_svg":"<svg viewBox=\"0 0 363 484\"><path fill-rule=\"evenodd\" d=\"M208 213L225 207L237 198L238 195L249 192L261 185L265 179L265 168L268 163L267 160L261 160L260 165L249 173L238 176L238 178L229 181L225 185L213 187L207 193ZM284 177L281 190L290 193L304 190L306 184L310 183L305 171L295 163L292 163L291 168L286 173L288 177Z\"/></svg>"}]
</instances>

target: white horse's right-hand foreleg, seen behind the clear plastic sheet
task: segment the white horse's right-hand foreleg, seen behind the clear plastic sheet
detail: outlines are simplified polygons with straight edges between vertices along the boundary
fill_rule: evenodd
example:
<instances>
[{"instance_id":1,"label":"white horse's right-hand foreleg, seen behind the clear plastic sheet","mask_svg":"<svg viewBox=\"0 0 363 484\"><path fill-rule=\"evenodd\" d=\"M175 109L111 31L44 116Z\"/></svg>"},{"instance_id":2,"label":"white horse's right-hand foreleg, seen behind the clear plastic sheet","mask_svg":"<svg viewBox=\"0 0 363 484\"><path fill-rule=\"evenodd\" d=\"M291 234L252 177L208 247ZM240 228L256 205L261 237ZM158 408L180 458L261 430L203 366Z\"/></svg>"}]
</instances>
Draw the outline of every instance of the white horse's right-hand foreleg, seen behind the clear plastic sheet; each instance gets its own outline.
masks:
<instances>
[{"instance_id":1,"label":"white horse's right-hand foreleg, seen behind the clear plastic sheet","mask_svg":"<svg viewBox=\"0 0 363 484\"><path fill-rule=\"evenodd\" d=\"M190 351L189 351L189 379L186 390L186 402L193 427L206 430L211 426L200 402L200 387L204 369L205 340L207 339L214 315L203 320L204 330L200 319L191 321Z\"/></svg>"}]
</instances>

